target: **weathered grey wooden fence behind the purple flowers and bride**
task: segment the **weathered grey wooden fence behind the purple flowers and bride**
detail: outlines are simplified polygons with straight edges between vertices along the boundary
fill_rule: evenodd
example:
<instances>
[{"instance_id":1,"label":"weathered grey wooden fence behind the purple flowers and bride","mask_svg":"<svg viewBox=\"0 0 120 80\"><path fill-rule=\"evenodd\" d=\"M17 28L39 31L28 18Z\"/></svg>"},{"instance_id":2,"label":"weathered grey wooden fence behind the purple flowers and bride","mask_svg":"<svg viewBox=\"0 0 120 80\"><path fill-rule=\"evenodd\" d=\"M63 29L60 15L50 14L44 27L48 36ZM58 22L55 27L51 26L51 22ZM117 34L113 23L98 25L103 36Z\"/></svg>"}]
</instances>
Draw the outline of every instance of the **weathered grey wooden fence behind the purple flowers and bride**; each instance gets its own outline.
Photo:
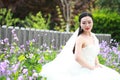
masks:
<instances>
[{"instance_id":1,"label":"weathered grey wooden fence behind the purple flowers and bride","mask_svg":"<svg viewBox=\"0 0 120 80\"><path fill-rule=\"evenodd\" d=\"M54 46L55 49L60 49L61 46L65 45L67 40L73 33L70 32L59 32L59 31L49 31L49 30L38 30L32 28L19 28L19 27L8 27L2 26L0 28L0 39L9 39L9 43L14 42L12 30L15 29L15 33L19 41L17 42L18 45L25 45L26 41L36 39L36 46ZM96 34L99 41L105 40L107 42L110 41L111 35L110 34ZM0 46L2 47L2 46Z\"/></svg>"}]
</instances>

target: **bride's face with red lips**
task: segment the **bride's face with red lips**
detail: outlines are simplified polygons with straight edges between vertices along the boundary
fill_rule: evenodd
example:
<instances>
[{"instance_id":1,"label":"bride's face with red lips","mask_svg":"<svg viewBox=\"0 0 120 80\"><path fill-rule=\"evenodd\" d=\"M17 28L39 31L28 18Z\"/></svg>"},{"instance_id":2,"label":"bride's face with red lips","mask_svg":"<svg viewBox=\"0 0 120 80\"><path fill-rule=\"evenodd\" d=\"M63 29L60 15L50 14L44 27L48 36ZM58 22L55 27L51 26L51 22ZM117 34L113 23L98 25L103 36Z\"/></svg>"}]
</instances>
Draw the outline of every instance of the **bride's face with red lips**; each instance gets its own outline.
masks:
<instances>
[{"instance_id":1,"label":"bride's face with red lips","mask_svg":"<svg viewBox=\"0 0 120 80\"><path fill-rule=\"evenodd\" d=\"M84 32L90 32L93 27L93 20L90 16L81 18L80 26Z\"/></svg>"}]
</instances>

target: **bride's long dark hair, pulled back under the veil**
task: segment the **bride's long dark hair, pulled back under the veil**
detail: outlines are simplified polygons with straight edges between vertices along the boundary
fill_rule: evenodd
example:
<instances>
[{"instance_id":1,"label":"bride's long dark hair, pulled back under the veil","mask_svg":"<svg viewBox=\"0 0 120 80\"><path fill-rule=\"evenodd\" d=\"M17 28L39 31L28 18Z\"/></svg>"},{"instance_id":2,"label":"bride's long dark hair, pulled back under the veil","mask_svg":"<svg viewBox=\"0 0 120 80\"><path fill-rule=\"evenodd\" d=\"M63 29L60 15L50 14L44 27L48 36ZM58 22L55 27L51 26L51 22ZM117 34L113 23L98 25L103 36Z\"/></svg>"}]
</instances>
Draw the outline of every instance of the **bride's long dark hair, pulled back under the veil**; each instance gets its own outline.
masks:
<instances>
[{"instance_id":1,"label":"bride's long dark hair, pulled back under the veil","mask_svg":"<svg viewBox=\"0 0 120 80\"><path fill-rule=\"evenodd\" d=\"M86 17L86 16L90 16L90 17L93 19L93 16L92 16L91 13L83 12L83 13L81 13L80 16L79 16L79 23L81 22L81 19L82 19L83 17ZM81 29L81 26L79 26L78 36L79 36L81 33L83 33L83 30ZM74 54L74 53L75 53L75 46L74 46L74 48L73 48L73 54Z\"/></svg>"}]
</instances>

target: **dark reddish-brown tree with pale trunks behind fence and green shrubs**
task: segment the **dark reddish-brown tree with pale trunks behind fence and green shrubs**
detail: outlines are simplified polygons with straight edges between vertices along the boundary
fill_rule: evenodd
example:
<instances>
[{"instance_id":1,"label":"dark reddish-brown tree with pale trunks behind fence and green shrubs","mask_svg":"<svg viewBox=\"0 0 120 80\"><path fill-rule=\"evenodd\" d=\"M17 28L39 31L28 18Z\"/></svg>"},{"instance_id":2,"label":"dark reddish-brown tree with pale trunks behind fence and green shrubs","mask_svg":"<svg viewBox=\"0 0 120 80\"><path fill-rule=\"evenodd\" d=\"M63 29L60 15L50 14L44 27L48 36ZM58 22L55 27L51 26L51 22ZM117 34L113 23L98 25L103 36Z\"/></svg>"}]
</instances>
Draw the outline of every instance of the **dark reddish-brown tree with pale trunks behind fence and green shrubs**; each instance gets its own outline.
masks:
<instances>
[{"instance_id":1,"label":"dark reddish-brown tree with pale trunks behind fence and green shrubs","mask_svg":"<svg viewBox=\"0 0 120 80\"><path fill-rule=\"evenodd\" d=\"M12 9L14 17L24 19L30 12L41 11L47 18L51 14L51 29L57 26L74 25L73 18L82 11L90 10L95 0L0 0L0 7ZM64 27L65 28L65 27Z\"/></svg>"}]
</instances>

